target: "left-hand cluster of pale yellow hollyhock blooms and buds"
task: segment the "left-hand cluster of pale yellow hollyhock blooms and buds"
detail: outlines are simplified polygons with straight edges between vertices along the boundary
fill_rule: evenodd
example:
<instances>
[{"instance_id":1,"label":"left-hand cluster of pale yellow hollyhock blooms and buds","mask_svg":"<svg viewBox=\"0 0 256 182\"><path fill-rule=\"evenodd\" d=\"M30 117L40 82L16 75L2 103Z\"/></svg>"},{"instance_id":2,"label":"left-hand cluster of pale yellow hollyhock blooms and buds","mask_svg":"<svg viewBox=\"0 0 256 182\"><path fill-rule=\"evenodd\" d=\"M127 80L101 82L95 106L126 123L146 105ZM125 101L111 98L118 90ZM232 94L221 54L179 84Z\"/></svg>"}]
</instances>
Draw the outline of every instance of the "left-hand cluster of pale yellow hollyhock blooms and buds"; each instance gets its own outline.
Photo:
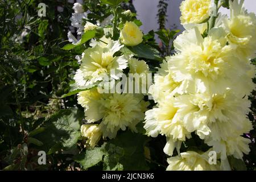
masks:
<instances>
[{"instance_id":1,"label":"left-hand cluster of pale yellow hollyhock blooms and buds","mask_svg":"<svg viewBox=\"0 0 256 182\"><path fill-rule=\"evenodd\" d=\"M74 7L75 11L79 8L78 13L81 13L80 6L75 4ZM76 14L73 16L77 16ZM130 11L123 11L122 14L122 17L129 16L127 19L134 16ZM86 21L80 28L83 30L82 34L95 31L96 36L90 39L89 47L80 56L80 68L74 76L76 85L79 88L86 88L77 94L77 101L84 107L85 112L86 123L81 126L81 135L86 140L86 147L96 146L102 137L115 138L120 129L129 128L137 132L136 125L143 121L144 112L149 105L141 93L101 92L102 88L110 89L115 86L112 85L112 81L121 80L125 74L144 73L146 76L149 68L145 61L136 59L131 53L121 51L125 46L137 46L142 43L143 34L137 24L126 20L123 28L119 30L114 30L117 27L109 28L104 27L104 23L100 24ZM97 35L97 31L100 30L103 30L102 35ZM118 32L119 38L114 38L114 32ZM106 77L109 80L105 80ZM110 88L104 88L106 85Z\"/></svg>"}]
</instances>

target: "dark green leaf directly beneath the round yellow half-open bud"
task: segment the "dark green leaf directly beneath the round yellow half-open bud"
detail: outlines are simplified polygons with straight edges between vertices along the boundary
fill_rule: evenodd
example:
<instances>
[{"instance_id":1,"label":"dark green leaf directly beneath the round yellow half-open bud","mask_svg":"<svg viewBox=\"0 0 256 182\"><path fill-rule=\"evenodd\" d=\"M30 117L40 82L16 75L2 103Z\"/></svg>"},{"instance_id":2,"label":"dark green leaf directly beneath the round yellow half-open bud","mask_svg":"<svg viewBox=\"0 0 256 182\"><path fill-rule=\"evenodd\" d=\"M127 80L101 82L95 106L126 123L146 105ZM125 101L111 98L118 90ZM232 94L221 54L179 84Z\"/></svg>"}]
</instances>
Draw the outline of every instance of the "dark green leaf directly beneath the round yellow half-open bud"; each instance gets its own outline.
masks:
<instances>
[{"instance_id":1,"label":"dark green leaf directly beneath the round yellow half-open bud","mask_svg":"<svg viewBox=\"0 0 256 182\"><path fill-rule=\"evenodd\" d=\"M123 47L121 51L123 53L133 53L134 56L145 58L145 59L158 60L158 61L162 60L162 58L159 56L158 50L142 43L134 47Z\"/></svg>"}]
</instances>

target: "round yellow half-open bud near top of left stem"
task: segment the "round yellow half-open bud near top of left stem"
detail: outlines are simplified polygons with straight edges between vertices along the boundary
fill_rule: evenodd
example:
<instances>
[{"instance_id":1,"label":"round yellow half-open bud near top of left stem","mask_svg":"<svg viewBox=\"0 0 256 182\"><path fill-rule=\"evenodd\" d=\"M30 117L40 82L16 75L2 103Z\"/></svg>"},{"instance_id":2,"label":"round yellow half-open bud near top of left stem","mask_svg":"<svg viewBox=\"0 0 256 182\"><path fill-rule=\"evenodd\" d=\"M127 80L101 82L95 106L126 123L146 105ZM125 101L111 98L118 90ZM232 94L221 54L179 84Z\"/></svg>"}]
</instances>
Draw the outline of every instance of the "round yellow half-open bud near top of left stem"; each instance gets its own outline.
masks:
<instances>
[{"instance_id":1,"label":"round yellow half-open bud near top of left stem","mask_svg":"<svg viewBox=\"0 0 256 182\"><path fill-rule=\"evenodd\" d=\"M143 34L137 24L134 22L126 22L123 26L120 39L126 46L137 46L142 43Z\"/></svg>"}]
</instances>

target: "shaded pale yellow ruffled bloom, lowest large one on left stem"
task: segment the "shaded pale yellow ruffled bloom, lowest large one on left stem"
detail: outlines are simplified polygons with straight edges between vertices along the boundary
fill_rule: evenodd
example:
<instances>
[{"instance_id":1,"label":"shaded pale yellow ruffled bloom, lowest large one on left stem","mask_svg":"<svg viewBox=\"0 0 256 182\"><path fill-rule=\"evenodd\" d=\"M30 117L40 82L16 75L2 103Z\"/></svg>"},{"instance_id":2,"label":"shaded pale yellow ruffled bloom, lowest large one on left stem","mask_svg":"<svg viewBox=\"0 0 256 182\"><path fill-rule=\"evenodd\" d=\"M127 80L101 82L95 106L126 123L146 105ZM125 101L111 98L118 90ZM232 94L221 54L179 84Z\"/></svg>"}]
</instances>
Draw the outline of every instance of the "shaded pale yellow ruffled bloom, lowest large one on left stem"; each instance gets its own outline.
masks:
<instances>
[{"instance_id":1,"label":"shaded pale yellow ruffled bloom, lowest large one on left stem","mask_svg":"<svg viewBox=\"0 0 256 182\"><path fill-rule=\"evenodd\" d=\"M135 126L143 120L148 106L141 94L99 94L97 89L80 92L77 100L85 108L88 123L101 121L103 137L110 139L119 129L137 131Z\"/></svg>"}]
</instances>

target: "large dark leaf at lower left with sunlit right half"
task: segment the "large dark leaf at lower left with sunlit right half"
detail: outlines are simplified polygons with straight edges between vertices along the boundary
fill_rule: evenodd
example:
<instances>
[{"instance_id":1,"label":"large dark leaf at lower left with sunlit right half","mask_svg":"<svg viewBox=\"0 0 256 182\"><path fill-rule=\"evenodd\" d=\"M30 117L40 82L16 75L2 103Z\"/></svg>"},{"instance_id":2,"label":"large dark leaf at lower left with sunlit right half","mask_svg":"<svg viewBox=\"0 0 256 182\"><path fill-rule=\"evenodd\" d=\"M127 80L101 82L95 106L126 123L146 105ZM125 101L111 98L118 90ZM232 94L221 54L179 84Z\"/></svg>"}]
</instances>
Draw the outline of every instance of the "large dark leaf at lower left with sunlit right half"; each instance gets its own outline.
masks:
<instances>
[{"instance_id":1,"label":"large dark leaf at lower left with sunlit right half","mask_svg":"<svg viewBox=\"0 0 256 182\"><path fill-rule=\"evenodd\" d=\"M60 149L72 150L80 139L80 124L83 118L82 110L60 110L44 122L44 131L34 134L33 138L44 143L40 149L48 154Z\"/></svg>"}]
</instances>

